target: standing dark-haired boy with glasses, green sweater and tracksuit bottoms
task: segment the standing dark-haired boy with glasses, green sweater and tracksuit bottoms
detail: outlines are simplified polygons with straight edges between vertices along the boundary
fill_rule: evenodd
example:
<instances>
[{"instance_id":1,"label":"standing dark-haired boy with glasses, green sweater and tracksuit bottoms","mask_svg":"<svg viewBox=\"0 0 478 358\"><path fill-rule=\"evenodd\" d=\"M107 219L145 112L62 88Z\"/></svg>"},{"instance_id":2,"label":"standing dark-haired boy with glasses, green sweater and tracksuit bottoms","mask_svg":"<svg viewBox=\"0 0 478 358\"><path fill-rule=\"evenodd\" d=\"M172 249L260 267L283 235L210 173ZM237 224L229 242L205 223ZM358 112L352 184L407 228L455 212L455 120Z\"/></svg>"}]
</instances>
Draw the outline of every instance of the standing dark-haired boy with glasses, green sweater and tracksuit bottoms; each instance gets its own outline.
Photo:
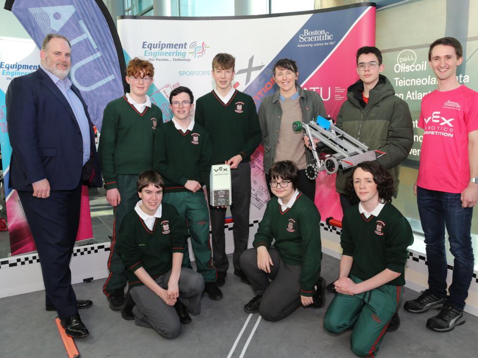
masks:
<instances>
[{"instance_id":1,"label":"standing dark-haired boy with glasses, green sweater and tracksuit bottoms","mask_svg":"<svg viewBox=\"0 0 478 358\"><path fill-rule=\"evenodd\" d=\"M209 298L223 297L216 285L209 243L209 210L203 186L209 186L213 150L209 133L194 119L194 96L187 87L173 89L169 95L171 121L159 129L154 142L154 169L165 181L163 202L174 205L187 219L198 272L203 275ZM183 267L191 268L186 245Z\"/></svg>"}]
</instances>

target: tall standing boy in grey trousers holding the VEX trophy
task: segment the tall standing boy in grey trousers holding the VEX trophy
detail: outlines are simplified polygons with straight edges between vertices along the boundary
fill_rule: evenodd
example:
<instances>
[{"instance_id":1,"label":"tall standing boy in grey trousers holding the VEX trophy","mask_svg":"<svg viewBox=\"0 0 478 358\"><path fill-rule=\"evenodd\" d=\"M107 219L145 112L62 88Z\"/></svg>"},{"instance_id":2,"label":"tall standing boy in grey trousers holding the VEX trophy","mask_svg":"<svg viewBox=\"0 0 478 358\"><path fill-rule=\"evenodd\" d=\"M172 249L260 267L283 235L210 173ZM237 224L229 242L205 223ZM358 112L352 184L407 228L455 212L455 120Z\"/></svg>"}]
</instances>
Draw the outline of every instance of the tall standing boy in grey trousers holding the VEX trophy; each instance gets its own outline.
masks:
<instances>
[{"instance_id":1,"label":"tall standing boy in grey trousers holding the VEX trophy","mask_svg":"<svg viewBox=\"0 0 478 358\"><path fill-rule=\"evenodd\" d=\"M217 54L212 63L216 87L196 101L195 121L211 136L213 163L231 166L231 214L234 219L234 274L247 282L239 257L249 240L250 156L260 142L260 127L252 97L233 87L236 59L228 53ZM218 269L217 285L225 283L229 260L226 255L225 207L209 207L214 253Z\"/></svg>"}]
</instances>

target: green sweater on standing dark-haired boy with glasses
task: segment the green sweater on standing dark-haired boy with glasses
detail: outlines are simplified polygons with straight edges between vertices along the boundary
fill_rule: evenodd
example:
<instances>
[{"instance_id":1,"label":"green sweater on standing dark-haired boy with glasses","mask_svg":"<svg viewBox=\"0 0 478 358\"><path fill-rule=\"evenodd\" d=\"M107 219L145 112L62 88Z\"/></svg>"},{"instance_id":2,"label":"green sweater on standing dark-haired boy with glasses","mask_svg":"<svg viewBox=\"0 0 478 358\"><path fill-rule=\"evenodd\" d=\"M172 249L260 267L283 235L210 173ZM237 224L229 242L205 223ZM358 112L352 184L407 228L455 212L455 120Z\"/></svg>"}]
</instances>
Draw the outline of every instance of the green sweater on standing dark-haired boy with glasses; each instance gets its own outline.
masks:
<instances>
[{"instance_id":1,"label":"green sweater on standing dark-haired boy with glasses","mask_svg":"<svg viewBox=\"0 0 478 358\"><path fill-rule=\"evenodd\" d=\"M158 128L154 141L154 170L164 178L164 192L188 191L187 180L209 186L213 150L209 133L194 123L184 133L169 121Z\"/></svg>"}]
</instances>

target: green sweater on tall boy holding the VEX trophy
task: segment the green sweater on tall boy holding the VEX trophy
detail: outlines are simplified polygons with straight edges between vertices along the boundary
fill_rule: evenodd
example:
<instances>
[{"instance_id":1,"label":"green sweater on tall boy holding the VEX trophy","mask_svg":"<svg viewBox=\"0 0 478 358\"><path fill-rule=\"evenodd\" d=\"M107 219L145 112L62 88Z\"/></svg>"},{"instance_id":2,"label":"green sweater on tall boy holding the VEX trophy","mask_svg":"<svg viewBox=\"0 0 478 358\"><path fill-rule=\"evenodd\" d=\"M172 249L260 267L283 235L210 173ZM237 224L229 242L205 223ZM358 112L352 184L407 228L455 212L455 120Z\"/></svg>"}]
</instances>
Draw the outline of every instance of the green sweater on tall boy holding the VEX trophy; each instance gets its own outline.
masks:
<instances>
[{"instance_id":1,"label":"green sweater on tall boy holding the VEX trophy","mask_svg":"<svg viewBox=\"0 0 478 358\"><path fill-rule=\"evenodd\" d=\"M254 100L238 90L227 104L214 90L198 98L194 120L211 136L213 164L224 164L238 154L243 162L249 162L259 145L261 132Z\"/></svg>"}]
</instances>

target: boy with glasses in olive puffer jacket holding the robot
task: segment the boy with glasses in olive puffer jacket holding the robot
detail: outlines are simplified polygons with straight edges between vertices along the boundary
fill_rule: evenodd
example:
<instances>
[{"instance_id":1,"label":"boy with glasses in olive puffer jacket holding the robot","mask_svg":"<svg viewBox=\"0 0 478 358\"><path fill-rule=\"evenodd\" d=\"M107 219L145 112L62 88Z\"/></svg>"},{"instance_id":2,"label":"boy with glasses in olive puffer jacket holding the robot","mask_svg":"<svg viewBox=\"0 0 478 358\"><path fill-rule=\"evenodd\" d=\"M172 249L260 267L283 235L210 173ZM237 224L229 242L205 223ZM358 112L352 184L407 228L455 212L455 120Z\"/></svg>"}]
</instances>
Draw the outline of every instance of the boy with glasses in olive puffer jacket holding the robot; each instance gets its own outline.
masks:
<instances>
[{"instance_id":1,"label":"boy with glasses in olive puffer jacket holding the robot","mask_svg":"<svg viewBox=\"0 0 478 358\"><path fill-rule=\"evenodd\" d=\"M381 74L384 65L379 49L372 46L360 47L356 58L359 80L348 89L347 100L337 116L337 126L367 145L370 150L385 153L377 162L392 176L393 196L396 197L400 163L408 157L413 145L410 110L408 104L395 95L388 79ZM340 195L344 212L352 206L351 197L355 195L347 185L352 173L353 169L337 173L336 191ZM335 293L334 282L327 289ZM389 331L396 330L398 326L396 316Z\"/></svg>"}]
</instances>

